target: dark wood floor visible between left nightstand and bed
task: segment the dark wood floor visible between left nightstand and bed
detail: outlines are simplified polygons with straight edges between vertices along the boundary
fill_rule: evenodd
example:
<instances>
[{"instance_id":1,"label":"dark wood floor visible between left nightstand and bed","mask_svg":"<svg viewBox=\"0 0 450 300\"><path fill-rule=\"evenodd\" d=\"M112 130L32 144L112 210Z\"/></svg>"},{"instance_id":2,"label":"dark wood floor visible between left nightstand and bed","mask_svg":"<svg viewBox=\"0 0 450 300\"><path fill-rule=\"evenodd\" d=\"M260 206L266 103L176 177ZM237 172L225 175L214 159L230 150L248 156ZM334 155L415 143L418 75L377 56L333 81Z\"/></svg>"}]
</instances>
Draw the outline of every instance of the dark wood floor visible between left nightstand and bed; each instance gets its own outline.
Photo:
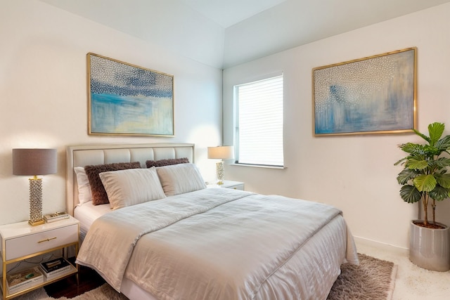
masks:
<instances>
[{"instance_id":1,"label":"dark wood floor visible between left nightstand and bed","mask_svg":"<svg viewBox=\"0 0 450 300\"><path fill-rule=\"evenodd\" d=\"M49 296L56 299L62 296L73 298L105 283L105 280L96 271L84 266L79 266L78 278L79 285L77 285L77 277L72 275L51 285L46 285L44 289Z\"/></svg>"}]
</instances>

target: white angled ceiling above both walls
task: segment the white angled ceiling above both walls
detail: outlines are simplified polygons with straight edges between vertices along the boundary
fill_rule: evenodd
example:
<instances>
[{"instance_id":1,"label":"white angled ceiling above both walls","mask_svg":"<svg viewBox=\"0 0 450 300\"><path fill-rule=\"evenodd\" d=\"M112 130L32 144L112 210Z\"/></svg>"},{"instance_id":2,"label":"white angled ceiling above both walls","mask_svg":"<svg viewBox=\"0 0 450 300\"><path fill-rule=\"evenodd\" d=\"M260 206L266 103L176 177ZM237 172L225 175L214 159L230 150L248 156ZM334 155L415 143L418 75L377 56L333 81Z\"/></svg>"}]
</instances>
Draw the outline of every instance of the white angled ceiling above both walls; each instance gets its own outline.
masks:
<instances>
[{"instance_id":1,"label":"white angled ceiling above both walls","mask_svg":"<svg viewBox=\"0 0 450 300\"><path fill-rule=\"evenodd\" d=\"M450 0L39 0L225 69Z\"/></svg>"}]
</instances>

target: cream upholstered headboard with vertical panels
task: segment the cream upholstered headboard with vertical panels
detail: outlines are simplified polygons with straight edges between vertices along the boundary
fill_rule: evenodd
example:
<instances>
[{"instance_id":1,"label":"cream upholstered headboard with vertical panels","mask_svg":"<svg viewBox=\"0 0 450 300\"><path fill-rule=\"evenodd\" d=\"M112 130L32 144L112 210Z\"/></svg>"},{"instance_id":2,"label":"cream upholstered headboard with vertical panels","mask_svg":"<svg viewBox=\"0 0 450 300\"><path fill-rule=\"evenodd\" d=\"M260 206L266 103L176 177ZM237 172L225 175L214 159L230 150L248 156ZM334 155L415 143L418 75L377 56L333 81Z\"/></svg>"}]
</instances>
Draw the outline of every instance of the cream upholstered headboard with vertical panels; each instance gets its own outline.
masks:
<instances>
[{"instance_id":1,"label":"cream upholstered headboard with vertical panels","mask_svg":"<svg viewBox=\"0 0 450 300\"><path fill-rule=\"evenodd\" d=\"M89 164L110 164L113 162L141 162L146 167L147 160L188 157L194 162L194 144L154 143L122 145L70 145L67 148L67 209L73 216L78 204L77 176L74 167Z\"/></svg>"}]
</instances>

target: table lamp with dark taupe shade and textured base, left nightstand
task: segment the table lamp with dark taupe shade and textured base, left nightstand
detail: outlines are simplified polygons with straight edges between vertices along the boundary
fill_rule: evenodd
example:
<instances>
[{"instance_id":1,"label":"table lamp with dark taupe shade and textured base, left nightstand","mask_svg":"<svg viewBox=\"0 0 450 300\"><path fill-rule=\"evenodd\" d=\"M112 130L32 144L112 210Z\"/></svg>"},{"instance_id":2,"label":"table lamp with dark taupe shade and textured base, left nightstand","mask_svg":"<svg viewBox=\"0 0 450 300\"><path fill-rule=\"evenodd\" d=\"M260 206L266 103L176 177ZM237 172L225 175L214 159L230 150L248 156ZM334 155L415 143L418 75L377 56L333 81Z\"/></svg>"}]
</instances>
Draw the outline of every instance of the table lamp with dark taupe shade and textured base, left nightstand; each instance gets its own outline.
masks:
<instances>
[{"instance_id":1,"label":"table lamp with dark taupe shade and textured base, left nightstand","mask_svg":"<svg viewBox=\"0 0 450 300\"><path fill-rule=\"evenodd\" d=\"M56 149L13 149L13 174L30 178L30 219L37 226L44 223L42 217L42 178L38 175L56 173Z\"/></svg>"}]
</instances>

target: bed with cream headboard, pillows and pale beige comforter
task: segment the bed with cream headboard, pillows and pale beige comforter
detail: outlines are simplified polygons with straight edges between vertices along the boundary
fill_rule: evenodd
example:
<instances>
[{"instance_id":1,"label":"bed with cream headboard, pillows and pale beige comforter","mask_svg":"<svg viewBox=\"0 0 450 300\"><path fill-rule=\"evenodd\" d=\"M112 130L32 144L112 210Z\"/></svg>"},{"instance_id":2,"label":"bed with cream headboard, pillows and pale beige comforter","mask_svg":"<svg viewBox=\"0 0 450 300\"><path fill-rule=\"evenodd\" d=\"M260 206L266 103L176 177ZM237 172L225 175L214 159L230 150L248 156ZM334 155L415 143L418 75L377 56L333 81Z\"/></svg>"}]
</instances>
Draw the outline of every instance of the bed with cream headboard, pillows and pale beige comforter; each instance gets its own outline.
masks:
<instances>
[{"instance_id":1,"label":"bed with cream headboard, pillows and pale beige comforter","mask_svg":"<svg viewBox=\"0 0 450 300\"><path fill-rule=\"evenodd\" d=\"M188 143L68 146L67 207L82 239L77 263L129 299L226 300L326 299L340 265L358 263L339 209L206 188L194 157ZM146 168L165 159L188 163ZM75 170L131 162L141 169L101 173L110 204L84 200ZM151 201L136 200L143 194Z\"/></svg>"}]
</instances>

